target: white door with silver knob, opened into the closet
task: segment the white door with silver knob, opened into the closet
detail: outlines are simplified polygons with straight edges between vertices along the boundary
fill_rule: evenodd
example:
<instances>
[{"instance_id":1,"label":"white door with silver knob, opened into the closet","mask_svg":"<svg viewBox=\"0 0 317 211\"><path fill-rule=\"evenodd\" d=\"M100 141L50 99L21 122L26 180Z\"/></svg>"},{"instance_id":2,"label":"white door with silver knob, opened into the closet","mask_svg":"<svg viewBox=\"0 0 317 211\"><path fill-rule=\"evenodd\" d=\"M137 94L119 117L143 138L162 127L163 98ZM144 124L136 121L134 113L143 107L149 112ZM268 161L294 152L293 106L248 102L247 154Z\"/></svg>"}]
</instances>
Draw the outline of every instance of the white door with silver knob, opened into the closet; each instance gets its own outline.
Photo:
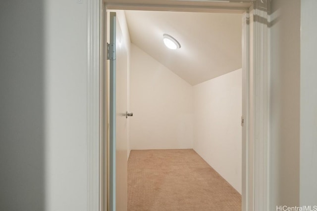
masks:
<instances>
[{"instance_id":1,"label":"white door with silver knob, opened into the closet","mask_svg":"<svg viewBox=\"0 0 317 211\"><path fill-rule=\"evenodd\" d=\"M127 210L128 52L115 12L110 12L110 211ZM111 49L111 47L110 47ZM111 56L110 56L111 57Z\"/></svg>"}]
</instances>

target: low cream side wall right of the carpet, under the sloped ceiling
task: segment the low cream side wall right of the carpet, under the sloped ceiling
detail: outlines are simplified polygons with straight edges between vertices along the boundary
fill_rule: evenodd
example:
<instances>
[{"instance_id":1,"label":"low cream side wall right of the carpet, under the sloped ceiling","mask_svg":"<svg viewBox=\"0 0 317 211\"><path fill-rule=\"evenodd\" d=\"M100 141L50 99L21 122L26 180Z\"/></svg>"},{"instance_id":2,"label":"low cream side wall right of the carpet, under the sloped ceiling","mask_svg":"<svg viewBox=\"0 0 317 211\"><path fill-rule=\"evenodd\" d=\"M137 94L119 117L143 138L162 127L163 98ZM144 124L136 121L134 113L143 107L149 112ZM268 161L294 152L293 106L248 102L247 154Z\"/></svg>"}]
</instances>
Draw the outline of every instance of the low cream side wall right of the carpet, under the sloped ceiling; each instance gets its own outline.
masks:
<instances>
[{"instance_id":1,"label":"low cream side wall right of the carpet, under the sloped ceiling","mask_svg":"<svg viewBox=\"0 0 317 211\"><path fill-rule=\"evenodd\" d=\"M193 88L194 150L241 193L242 70Z\"/></svg>"}]
</instances>

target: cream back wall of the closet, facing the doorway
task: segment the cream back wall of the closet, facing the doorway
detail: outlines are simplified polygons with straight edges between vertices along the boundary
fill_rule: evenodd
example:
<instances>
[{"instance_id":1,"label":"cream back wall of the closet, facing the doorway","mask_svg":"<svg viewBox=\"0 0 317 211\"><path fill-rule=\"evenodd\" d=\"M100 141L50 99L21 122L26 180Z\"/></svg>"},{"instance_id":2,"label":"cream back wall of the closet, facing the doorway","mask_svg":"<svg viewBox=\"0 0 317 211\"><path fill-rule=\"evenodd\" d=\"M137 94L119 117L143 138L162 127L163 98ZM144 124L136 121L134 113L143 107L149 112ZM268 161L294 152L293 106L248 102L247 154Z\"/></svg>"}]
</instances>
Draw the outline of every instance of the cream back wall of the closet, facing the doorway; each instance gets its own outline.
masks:
<instances>
[{"instance_id":1,"label":"cream back wall of the closet, facing the doorway","mask_svg":"<svg viewBox=\"0 0 317 211\"><path fill-rule=\"evenodd\" d=\"M131 149L193 147L192 86L131 44Z\"/></svg>"}]
</instances>

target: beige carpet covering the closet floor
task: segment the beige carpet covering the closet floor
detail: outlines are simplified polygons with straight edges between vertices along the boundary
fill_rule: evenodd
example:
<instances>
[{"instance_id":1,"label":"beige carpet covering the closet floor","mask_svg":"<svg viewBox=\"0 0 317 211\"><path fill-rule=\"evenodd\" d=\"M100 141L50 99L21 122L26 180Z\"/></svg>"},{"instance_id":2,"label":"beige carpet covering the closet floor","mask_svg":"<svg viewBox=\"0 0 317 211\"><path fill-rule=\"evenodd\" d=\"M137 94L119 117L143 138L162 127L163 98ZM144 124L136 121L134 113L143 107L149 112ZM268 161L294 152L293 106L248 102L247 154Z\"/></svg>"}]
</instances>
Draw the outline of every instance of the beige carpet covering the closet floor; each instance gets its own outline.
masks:
<instances>
[{"instance_id":1,"label":"beige carpet covering the closet floor","mask_svg":"<svg viewBox=\"0 0 317 211\"><path fill-rule=\"evenodd\" d=\"M241 195L194 150L132 150L128 211L241 211Z\"/></svg>"}]
</instances>

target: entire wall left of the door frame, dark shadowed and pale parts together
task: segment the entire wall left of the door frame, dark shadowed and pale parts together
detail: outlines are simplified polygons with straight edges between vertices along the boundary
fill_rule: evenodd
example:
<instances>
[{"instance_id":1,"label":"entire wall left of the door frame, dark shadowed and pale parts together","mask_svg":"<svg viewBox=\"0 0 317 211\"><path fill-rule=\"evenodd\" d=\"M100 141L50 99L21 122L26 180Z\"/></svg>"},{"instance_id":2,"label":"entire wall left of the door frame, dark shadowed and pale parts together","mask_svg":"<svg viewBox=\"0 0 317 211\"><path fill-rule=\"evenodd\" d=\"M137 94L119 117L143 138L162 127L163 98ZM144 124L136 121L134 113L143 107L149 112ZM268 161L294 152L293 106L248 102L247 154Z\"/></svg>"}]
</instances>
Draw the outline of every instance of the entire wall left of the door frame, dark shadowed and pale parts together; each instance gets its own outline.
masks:
<instances>
[{"instance_id":1,"label":"entire wall left of the door frame, dark shadowed and pale parts together","mask_svg":"<svg viewBox=\"0 0 317 211\"><path fill-rule=\"evenodd\" d=\"M0 6L0 210L87 209L87 1Z\"/></svg>"}]
</instances>

